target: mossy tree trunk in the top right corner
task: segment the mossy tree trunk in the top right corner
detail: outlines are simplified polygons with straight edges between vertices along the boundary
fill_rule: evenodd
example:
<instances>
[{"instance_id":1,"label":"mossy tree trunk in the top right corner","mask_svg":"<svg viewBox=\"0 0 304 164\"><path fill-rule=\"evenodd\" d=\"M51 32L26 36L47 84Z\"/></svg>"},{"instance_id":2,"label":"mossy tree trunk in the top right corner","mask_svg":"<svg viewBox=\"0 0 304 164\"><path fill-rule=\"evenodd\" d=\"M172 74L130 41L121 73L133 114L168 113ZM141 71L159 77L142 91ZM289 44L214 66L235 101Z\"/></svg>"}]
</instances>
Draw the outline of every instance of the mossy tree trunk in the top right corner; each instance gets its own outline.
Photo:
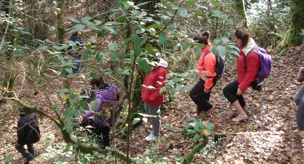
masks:
<instances>
[{"instance_id":1,"label":"mossy tree trunk in the top right corner","mask_svg":"<svg viewBox=\"0 0 304 164\"><path fill-rule=\"evenodd\" d=\"M288 33L283 40L285 45L302 44L299 32L304 29L304 1L292 0L290 6L290 23Z\"/></svg>"}]
</instances>

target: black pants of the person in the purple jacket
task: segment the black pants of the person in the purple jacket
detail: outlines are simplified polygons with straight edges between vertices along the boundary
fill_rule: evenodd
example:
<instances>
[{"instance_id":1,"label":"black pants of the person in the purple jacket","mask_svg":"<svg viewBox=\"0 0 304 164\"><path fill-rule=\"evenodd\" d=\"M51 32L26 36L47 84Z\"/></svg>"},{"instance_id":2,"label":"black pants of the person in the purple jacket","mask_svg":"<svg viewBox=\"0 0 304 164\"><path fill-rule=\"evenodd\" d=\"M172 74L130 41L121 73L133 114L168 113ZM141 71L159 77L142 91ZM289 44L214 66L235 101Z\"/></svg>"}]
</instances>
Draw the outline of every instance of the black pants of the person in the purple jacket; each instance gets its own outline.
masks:
<instances>
[{"instance_id":1,"label":"black pants of the person in the purple jacket","mask_svg":"<svg viewBox=\"0 0 304 164\"><path fill-rule=\"evenodd\" d=\"M110 127L109 126L99 126L96 125L92 119L86 119L81 123L82 127L86 126L93 126L94 128L89 128L93 133L96 133L96 135L101 136L102 135L102 141L99 139L99 143L104 145L104 146L109 146L110 145ZM112 127L112 126L111 126ZM91 133L91 132L90 132Z\"/></svg>"}]
</instances>

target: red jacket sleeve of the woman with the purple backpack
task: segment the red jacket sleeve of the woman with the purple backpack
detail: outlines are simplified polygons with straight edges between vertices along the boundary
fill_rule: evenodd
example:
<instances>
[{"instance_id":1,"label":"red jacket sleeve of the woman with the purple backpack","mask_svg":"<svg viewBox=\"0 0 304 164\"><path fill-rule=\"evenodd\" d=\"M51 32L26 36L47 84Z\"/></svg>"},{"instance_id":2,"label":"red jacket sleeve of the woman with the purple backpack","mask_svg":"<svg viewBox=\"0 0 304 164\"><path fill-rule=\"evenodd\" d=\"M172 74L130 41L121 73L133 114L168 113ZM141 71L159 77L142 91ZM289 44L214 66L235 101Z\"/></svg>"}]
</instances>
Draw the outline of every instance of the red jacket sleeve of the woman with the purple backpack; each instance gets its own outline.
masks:
<instances>
[{"instance_id":1,"label":"red jacket sleeve of the woman with the purple backpack","mask_svg":"<svg viewBox=\"0 0 304 164\"><path fill-rule=\"evenodd\" d=\"M246 63L247 63L246 75L243 81L238 85L238 87L243 91L245 91L250 86L250 83L255 80L255 76L259 68L259 66L257 65L260 64L258 55L255 53L247 54Z\"/></svg>"}]
</instances>

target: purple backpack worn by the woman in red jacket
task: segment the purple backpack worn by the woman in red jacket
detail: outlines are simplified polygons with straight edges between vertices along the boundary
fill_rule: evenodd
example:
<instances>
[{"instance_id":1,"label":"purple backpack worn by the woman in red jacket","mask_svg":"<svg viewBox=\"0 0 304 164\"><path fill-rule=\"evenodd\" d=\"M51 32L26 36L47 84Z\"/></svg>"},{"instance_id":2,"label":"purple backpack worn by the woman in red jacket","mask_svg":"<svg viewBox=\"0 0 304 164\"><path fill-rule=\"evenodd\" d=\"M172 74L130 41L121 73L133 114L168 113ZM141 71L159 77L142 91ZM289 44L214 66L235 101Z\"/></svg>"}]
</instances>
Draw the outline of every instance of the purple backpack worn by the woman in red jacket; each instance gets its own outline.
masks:
<instances>
[{"instance_id":1,"label":"purple backpack worn by the woman in red jacket","mask_svg":"<svg viewBox=\"0 0 304 164\"><path fill-rule=\"evenodd\" d=\"M271 70L271 55L269 55L263 48L257 47L257 49L252 49L250 52L256 53L260 59L260 68L257 72L257 78L268 78ZM248 52L248 53L250 53ZM246 57L245 59L245 69L247 69Z\"/></svg>"}]
</instances>

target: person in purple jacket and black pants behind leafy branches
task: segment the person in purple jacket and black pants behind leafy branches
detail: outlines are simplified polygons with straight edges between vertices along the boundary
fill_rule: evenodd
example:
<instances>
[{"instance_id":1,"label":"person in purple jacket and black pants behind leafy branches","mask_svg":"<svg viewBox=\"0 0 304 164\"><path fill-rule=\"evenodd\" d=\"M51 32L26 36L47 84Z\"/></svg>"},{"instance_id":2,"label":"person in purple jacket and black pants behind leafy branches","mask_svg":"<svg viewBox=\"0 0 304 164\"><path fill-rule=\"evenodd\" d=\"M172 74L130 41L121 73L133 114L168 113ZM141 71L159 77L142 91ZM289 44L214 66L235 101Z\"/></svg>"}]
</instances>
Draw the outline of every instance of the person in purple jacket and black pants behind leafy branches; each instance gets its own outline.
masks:
<instances>
[{"instance_id":1,"label":"person in purple jacket and black pants behind leafy branches","mask_svg":"<svg viewBox=\"0 0 304 164\"><path fill-rule=\"evenodd\" d=\"M95 135L101 136L102 141L99 140L99 143L104 146L109 146L110 137L109 131L110 127L117 121L117 116L119 112L114 115L114 122L112 121L112 112L110 109L114 109L121 106L123 103L123 99L126 97L125 92L120 92L118 88L111 84L104 83L102 77L99 79L91 79L89 84L93 87L93 94L95 95L95 100L98 102L98 106L96 109L92 109L92 105L90 105L90 110L85 111L85 115L80 115L79 124L83 127L88 125L93 126L91 129L92 132L95 132ZM94 101L94 100L93 100ZM93 102L94 103L94 102ZM92 104L92 102L91 102ZM99 112L102 110L102 114L94 114L93 112ZM116 111L116 110L114 110Z\"/></svg>"}]
</instances>

